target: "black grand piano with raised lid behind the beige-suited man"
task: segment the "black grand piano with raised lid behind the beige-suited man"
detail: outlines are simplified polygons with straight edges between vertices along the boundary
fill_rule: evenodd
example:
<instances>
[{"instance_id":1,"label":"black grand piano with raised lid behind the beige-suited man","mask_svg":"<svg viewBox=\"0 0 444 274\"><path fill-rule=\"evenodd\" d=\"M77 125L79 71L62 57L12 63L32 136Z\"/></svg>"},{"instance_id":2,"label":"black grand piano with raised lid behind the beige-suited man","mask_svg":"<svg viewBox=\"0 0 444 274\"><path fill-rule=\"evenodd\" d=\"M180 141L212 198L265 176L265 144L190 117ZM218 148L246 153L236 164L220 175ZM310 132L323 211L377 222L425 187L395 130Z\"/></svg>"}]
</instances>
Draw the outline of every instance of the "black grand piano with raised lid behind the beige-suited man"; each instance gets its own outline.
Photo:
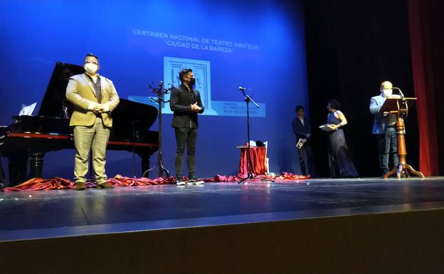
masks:
<instances>
[{"instance_id":1,"label":"black grand piano with raised lid behind the beige-suited man","mask_svg":"<svg viewBox=\"0 0 444 274\"><path fill-rule=\"evenodd\" d=\"M69 78L81 73L84 70L80 65L57 62L38 115L14 116L11 125L0 128L0 153L9 159L10 185L42 177L46 153L74 148L73 130L69 127L73 107L65 98L65 90ZM134 152L141 158L142 172L146 171L149 158L158 149L159 132L149 130L156 119L156 107L121 98L112 112L107 150Z\"/></svg>"}]
</instances>

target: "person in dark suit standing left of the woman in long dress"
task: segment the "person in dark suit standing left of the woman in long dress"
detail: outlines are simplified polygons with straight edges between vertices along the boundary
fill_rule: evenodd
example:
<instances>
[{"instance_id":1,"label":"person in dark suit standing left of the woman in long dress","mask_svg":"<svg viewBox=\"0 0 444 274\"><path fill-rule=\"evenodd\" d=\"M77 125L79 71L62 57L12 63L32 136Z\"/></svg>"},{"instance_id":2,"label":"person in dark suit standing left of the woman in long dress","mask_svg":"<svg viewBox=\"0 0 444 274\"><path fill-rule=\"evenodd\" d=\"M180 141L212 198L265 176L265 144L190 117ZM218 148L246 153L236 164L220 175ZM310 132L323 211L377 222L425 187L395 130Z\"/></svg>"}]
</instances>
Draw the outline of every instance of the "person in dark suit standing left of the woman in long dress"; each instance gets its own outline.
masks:
<instances>
[{"instance_id":1,"label":"person in dark suit standing left of the woman in long dress","mask_svg":"<svg viewBox=\"0 0 444 274\"><path fill-rule=\"evenodd\" d=\"M296 143L302 143L302 147L299 149L299 162L300 169L303 175L309 175L314 177L314 163L313 152L310 137L312 136L312 125L310 120L304 115L304 107L298 105L296 107L297 117L292 121L293 132L296 135Z\"/></svg>"}]
</instances>

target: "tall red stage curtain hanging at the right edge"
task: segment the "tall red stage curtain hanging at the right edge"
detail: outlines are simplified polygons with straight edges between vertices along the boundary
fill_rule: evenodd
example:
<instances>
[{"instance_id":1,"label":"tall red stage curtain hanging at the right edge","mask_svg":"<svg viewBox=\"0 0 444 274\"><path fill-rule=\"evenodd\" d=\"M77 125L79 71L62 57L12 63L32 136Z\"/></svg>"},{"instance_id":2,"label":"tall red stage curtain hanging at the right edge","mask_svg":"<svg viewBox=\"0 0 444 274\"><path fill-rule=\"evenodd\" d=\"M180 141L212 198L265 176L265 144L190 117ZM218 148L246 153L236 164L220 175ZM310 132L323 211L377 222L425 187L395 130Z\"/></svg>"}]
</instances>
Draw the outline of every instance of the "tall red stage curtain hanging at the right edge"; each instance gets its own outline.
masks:
<instances>
[{"instance_id":1,"label":"tall red stage curtain hanging at the right edge","mask_svg":"<svg viewBox=\"0 0 444 274\"><path fill-rule=\"evenodd\" d=\"M444 174L444 1L408 0L411 56L418 98L419 170ZM441 139L440 139L441 138Z\"/></svg>"}]
</instances>

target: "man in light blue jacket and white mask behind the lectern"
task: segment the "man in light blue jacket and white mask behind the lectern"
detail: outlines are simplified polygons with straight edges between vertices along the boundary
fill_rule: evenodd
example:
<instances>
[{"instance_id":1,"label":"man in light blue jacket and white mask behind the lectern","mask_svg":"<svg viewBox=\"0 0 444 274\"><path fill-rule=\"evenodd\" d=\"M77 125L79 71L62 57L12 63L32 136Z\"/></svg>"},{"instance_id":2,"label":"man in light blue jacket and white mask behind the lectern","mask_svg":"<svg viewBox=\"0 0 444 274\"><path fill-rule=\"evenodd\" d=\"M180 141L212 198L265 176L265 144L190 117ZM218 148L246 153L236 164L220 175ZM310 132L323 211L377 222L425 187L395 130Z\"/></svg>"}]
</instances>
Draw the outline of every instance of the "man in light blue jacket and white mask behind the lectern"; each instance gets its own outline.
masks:
<instances>
[{"instance_id":1,"label":"man in light blue jacket and white mask behind the lectern","mask_svg":"<svg viewBox=\"0 0 444 274\"><path fill-rule=\"evenodd\" d=\"M396 136L396 114L384 115L379 113L386 98L399 98L393 95L393 84L389 81L381 83L381 94L370 99L370 113L374 115L372 134L376 135L379 149L379 168L384 176L391 169L388 166L390 158L393 167L398 166L398 137Z\"/></svg>"}]
</instances>

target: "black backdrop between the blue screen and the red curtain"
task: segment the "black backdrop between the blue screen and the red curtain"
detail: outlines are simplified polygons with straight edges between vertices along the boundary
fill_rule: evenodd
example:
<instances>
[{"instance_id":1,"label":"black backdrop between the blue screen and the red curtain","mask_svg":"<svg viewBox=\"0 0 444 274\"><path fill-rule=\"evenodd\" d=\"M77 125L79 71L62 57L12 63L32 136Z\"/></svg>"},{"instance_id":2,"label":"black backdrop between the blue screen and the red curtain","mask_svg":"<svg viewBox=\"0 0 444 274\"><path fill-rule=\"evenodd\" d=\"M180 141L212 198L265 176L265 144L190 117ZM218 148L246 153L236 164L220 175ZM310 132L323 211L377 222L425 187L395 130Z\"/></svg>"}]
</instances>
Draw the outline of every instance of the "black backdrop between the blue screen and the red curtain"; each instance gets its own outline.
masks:
<instances>
[{"instance_id":1,"label":"black backdrop between the blue screen and the red curtain","mask_svg":"<svg viewBox=\"0 0 444 274\"><path fill-rule=\"evenodd\" d=\"M349 125L347 143L360 176L379 176L376 138L371 135L370 98L391 80L413 97L408 7L404 0L305 1L310 115L327 120L327 101L336 98ZM406 121L407 162L418 168L415 107ZM329 176L324 132L314 132L319 176Z\"/></svg>"}]
</instances>

